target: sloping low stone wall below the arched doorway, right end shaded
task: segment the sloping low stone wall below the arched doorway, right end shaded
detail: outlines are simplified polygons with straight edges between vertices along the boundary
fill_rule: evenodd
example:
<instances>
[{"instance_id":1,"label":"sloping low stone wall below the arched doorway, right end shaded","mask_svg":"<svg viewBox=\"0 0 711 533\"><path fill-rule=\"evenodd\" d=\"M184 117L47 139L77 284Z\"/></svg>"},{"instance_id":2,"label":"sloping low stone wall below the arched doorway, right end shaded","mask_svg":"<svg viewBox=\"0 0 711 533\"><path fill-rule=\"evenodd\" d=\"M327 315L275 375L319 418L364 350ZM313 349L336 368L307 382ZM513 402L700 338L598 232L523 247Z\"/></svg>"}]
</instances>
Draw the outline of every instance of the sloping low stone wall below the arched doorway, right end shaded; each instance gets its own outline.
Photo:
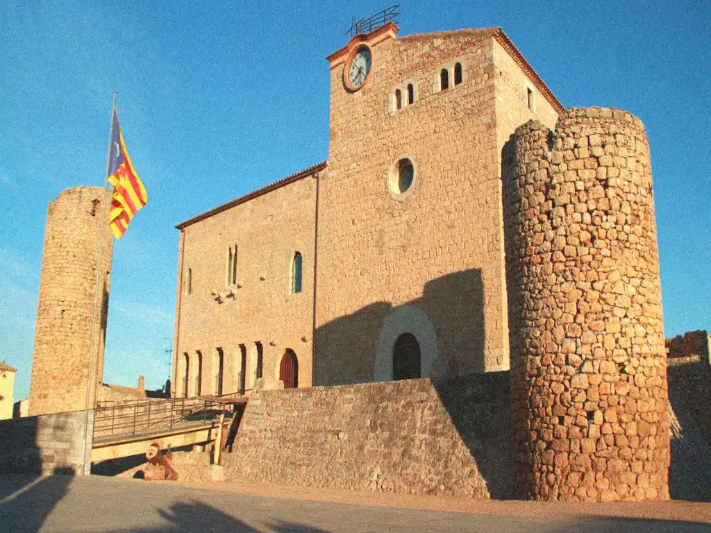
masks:
<instances>
[{"instance_id":1,"label":"sloping low stone wall below the arched doorway, right end shaded","mask_svg":"<svg viewBox=\"0 0 711 533\"><path fill-rule=\"evenodd\" d=\"M508 372L252 394L225 476L235 480L506 498Z\"/></svg>"}]
</instances>

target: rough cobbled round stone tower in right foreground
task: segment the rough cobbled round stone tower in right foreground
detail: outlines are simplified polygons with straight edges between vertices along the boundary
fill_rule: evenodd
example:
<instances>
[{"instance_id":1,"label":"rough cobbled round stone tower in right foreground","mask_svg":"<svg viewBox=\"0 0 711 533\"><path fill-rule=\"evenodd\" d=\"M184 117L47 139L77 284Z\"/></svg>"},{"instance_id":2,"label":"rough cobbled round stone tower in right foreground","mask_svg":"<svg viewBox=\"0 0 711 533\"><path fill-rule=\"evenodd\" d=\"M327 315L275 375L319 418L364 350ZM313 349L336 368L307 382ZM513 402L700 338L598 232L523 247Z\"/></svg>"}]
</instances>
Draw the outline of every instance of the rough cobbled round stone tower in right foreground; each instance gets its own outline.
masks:
<instances>
[{"instance_id":1,"label":"rough cobbled round stone tower in right foreground","mask_svg":"<svg viewBox=\"0 0 711 533\"><path fill-rule=\"evenodd\" d=\"M668 389L649 149L614 109L520 126L503 152L518 488L669 497Z\"/></svg>"}]
</instances>

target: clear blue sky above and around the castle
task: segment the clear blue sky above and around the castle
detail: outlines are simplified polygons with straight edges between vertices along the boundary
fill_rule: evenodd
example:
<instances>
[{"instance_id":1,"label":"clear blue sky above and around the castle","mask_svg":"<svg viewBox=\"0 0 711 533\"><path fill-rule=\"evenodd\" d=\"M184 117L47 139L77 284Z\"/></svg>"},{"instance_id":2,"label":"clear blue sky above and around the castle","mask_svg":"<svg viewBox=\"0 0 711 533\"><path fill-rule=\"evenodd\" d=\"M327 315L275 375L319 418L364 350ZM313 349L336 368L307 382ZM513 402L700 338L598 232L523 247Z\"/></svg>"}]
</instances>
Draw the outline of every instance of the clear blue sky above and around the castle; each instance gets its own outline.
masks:
<instances>
[{"instance_id":1,"label":"clear blue sky above and around the castle","mask_svg":"<svg viewBox=\"0 0 711 533\"><path fill-rule=\"evenodd\" d=\"M328 158L324 58L351 16L385 7L0 0L0 360L18 369L15 399L29 390L47 203L102 184L113 91L150 201L114 247L104 380L158 388L173 226ZM665 335L711 329L711 3L404 1L400 13L400 35L501 26L565 107L643 120Z\"/></svg>"}]
</instances>

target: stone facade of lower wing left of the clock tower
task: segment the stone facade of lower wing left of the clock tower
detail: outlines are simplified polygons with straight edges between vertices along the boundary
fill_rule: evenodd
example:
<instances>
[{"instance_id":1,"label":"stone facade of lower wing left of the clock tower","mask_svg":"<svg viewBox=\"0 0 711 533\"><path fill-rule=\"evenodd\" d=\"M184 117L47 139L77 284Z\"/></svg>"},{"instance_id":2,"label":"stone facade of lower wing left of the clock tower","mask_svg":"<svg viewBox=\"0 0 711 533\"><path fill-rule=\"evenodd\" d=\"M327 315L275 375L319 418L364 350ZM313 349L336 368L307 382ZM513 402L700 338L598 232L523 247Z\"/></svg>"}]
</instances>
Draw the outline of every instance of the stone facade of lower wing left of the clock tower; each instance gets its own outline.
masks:
<instances>
[{"instance_id":1,"label":"stone facade of lower wing left of the clock tower","mask_svg":"<svg viewBox=\"0 0 711 533\"><path fill-rule=\"evenodd\" d=\"M252 389L260 350L264 377L279 379L288 349L298 360L299 386L311 385L316 175L321 168L178 225L174 397L186 396L186 383L187 395L195 396L198 382L201 394L215 394L220 352L223 394L239 391L242 372L247 392ZM228 261L235 249L236 279L230 283ZM296 252L302 258L301 292L292 294Z\"/></svg>"}]
</instances>

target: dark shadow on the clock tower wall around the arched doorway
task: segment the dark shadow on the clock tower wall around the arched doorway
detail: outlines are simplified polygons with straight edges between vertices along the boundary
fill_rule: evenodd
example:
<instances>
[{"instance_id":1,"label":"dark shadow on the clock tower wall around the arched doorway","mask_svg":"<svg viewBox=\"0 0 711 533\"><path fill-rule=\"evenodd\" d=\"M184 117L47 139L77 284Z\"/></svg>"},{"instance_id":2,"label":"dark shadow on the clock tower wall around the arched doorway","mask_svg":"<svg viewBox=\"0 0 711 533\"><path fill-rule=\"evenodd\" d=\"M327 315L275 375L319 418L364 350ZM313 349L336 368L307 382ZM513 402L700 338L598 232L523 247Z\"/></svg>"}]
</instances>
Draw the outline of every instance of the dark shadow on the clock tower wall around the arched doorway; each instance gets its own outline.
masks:
<instances>
[{"instance_id":1,"label":"dark shadow on the clock tower wall around the arched doorway","mask_svg":"<svg viewBox=\"0 0 711 533\"><path fill-rule=\"evenodd\" d=\"M432 322L437 335L439 361L436 367L447 370L449 377L484 371L481 269L453 272L432 279L424 284L420 298L402 303L402 306L419 308ZM383 321L397 307L385 301L371 303L316 328L314 385L372 382ZM405 326L403 333L406 332Z\"/></svg>"}]
</instances>

